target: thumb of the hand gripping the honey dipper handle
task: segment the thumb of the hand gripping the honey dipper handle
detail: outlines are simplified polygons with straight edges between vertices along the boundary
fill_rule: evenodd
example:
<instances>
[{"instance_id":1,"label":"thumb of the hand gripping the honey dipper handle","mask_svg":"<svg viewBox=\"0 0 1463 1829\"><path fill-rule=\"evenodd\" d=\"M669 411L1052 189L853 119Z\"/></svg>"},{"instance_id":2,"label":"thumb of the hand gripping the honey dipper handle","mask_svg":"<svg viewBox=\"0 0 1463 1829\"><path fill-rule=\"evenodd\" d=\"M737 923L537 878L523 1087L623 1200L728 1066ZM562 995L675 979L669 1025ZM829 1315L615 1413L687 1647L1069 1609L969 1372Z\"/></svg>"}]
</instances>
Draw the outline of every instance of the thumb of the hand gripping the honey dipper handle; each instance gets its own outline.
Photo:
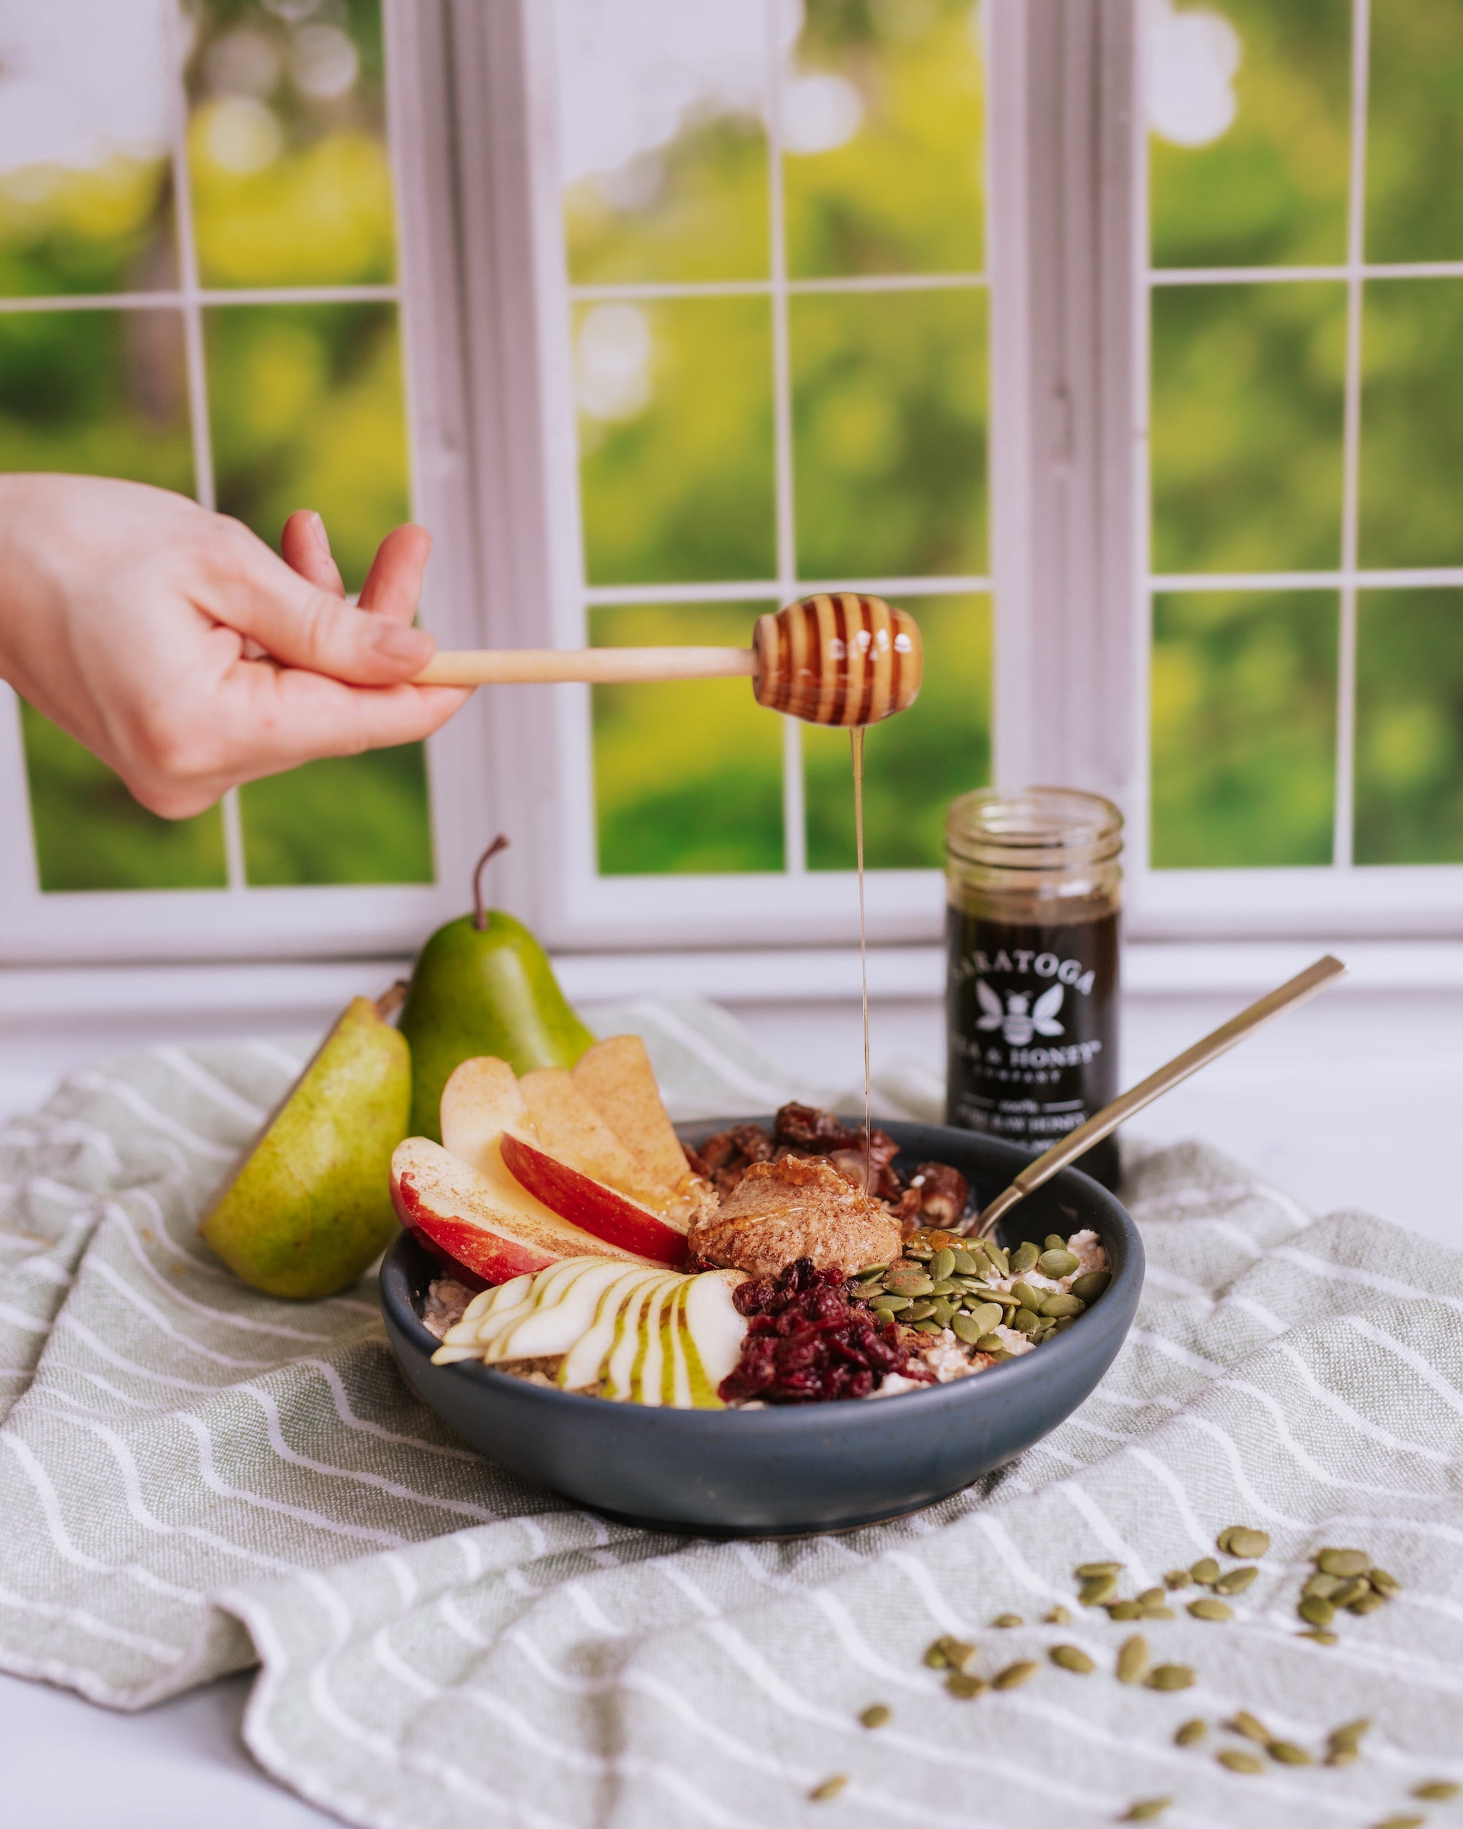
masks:
<instances>
[{"instance_id":1,"label":"thumb of the hand gripping the honey dipper handle","mask_svg":"<svg viewBox=\"0 0 1463 1829\"><path fill-rule=\"evenodd\" d=\"M240 529L243 532L243 529ZM397 686L437 651L426 629L355 609L309 583L262 540L229 538L205 607L240 635L251 635L274 660L326 673L353 686Z\"/></svg>"}]
</instances>

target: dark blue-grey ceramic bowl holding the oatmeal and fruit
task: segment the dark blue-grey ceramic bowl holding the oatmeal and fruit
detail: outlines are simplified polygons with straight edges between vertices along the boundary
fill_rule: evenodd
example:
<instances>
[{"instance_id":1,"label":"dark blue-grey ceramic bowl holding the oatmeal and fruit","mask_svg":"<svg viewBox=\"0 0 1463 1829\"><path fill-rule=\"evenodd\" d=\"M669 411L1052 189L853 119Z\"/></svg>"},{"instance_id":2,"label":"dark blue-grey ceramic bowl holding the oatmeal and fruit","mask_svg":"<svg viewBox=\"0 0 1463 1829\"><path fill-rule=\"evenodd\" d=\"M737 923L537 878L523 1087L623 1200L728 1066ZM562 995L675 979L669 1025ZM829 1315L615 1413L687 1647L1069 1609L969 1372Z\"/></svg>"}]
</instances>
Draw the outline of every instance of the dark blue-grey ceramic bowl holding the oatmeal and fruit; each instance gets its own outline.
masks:
<instances>
[{"instance_id":1,"label":"dark blue-grey ceramic bowl holding the oatmeal and fruit","mask_svg":"<svg viewBox=\"0 0 1463 1829\"><path fill-rule=\"evenodd\" d=\"M689 1143L724 1119L682 1125ZM902 1161L947 1161L977 1205L1030 1161L1013 1143L944 1125L887 1123ZM386 1333L406 1383L481 1454L613 1518L702 1536L845 1531L933 1505L1000 1467L1070 1416L1094 1390L1132 1326L1143 1242L1106 1189L1064 1169L998 1227L1000 1242L1041 1242L1090 1225L1112 1262L1105 1295L1033 1353L955 1385L865 1403L768 1410L660 1410L576 1397L490 1372L433 1366L437 1341L419 1321L441 1266L410 1233L380 1266Z\"/></svg>"}]
</instances>

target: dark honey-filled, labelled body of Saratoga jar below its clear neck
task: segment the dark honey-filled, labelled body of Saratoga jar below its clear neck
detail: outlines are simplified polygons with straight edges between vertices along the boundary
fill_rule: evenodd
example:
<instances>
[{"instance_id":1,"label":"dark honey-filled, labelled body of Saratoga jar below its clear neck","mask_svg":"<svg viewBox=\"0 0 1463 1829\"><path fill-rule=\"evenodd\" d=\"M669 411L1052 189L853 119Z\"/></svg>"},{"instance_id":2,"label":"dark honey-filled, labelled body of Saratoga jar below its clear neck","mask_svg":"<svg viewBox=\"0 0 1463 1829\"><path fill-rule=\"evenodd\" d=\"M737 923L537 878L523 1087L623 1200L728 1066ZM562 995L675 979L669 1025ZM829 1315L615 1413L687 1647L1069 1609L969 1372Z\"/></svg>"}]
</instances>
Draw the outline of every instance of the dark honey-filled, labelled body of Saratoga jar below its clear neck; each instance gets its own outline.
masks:
<instances>
[{"instance_id":1,"label":"dark honey-filled, labelled body of Saratoga jar below its clear neck","mask_svg":"<svg viewBox=\"0 0 1463 1829\"><path fill-rule=\"evenodd\" d=\"M1044 925L947 909L947 1123L1041 1154L1116 1097L1117 920ZM1114 1185L1114 1139L1079 1167Z\"/></svg>"}]
</instances>

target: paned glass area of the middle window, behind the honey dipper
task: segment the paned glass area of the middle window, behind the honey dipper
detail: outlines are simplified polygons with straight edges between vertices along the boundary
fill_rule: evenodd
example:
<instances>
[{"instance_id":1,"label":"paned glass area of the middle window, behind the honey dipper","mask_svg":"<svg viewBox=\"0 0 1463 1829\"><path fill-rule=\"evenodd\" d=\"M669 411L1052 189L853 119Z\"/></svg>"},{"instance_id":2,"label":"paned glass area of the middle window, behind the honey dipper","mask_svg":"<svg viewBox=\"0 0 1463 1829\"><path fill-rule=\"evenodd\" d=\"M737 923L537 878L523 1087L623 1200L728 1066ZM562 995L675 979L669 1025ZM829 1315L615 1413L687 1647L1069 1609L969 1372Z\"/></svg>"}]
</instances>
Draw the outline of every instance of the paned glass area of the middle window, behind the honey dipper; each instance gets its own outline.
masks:
<instances>
[{"instance_id":1,"label":"paned glass area of the middle window, behind the honey dipper","mask_svg":"<svg viewBox=\"0 0 1463 1829\"><path fill-rule=\"evenodd\" d=\"M938 865L989 777L978 13L560 0L556 27L583 627L927 604L925 693L869 735L870 863ZM744 682L593 701L602 883L852 867L847 737L774 743Z\"/></svg>"}]
</instances>

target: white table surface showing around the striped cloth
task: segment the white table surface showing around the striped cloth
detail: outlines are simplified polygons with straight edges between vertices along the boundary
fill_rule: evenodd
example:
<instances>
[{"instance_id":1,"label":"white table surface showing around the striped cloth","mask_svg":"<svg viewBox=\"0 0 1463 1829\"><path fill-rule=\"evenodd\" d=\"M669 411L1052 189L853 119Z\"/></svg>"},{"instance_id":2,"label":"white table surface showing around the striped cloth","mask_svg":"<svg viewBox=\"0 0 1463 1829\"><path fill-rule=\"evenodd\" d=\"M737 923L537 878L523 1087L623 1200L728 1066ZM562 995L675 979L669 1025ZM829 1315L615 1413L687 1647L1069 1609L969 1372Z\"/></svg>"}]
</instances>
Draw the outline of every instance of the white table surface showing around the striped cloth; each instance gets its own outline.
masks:
<instances>
[{"instance_id":1,"label":"white table surface showing around the striped cloth","mask_svg":"<svg viewBox=\"0 0 1463 1829\"><path fill-rule=\"evenodd\" d=\"M1123 1083L1223 1021L1247 997L1132 999ZM739 1002L768 1054L841 1086L860 1044L847 1002ZM77 1063L117 1046L77 1033ZM933 1000L881 1000L874 1064L940 1064ZM0 1043L0 1114L44 1097L68 1063ZM1256 1035L1137 1121L1154 1141L1203 1138L1315 1213L1361 1207L1463 1247L1450 1145L1463 1112L1463 991L1339 991ZM0 1675L5 1789L15 1829L304 1829L329 1822L254 1767L240 1739L249 1677L117 1716L62 1690Z\"/></svg>"}]
</instances>

